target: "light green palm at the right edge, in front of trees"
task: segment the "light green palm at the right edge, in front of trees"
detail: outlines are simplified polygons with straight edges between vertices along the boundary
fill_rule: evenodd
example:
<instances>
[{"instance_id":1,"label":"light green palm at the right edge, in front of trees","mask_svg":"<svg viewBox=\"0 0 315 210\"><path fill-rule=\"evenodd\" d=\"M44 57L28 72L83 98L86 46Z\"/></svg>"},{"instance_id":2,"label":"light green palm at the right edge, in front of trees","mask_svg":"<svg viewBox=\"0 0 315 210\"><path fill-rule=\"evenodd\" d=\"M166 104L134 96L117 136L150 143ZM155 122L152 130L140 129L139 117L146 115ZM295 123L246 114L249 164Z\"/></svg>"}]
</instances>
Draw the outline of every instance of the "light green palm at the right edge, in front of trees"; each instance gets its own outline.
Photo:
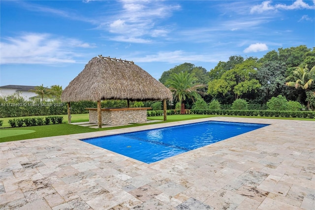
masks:
<instances>
[{"instance_id":1,"label":"light green palm at the right edge, in front of trees","mask_svg":"<svg viewBox=\"0 0 315 210\"><path fill-rule=\"evenodd\" d=\"M306 92L311 89L311 86L314 83L315 66L311 70L307 68L307 65L305 65L305 68L296 67L296 69L292 71L292 75L286 77L286 80L291 80L290 82L285 83L286 86L303 89ZM307 108L310 108L309 101L307 102Z\"/></svg>"}]
</instances>

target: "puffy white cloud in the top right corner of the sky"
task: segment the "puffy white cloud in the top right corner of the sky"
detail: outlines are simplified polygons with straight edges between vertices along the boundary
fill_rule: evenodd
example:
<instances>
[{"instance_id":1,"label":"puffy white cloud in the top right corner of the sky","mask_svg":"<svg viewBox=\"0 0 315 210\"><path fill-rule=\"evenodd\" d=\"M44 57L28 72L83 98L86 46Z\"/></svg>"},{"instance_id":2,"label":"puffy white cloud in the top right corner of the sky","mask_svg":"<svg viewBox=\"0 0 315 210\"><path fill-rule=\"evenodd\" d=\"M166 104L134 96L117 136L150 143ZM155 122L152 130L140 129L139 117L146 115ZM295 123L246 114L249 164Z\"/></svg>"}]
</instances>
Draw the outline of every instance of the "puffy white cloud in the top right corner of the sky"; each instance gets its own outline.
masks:
<instances>
[{"instance_id":1,"label":"puffy white cloud in the top right corner of the sky","mask_svg":"<svg viewBox=\"0 0 315 210\"><path fill-rule=\"evenodd\" d=\"M251 8L251 14L252 13L263 13L268 10L277 10L277 9L283 9L283 10L293 10L293 9L314 9L314 5L311 6L307 3L305 3L303 0L295 0L291 5L286 4L275 4L271 5L272 1L263 1L259 5L255 5ZM315 3L315 1L314 1Z\"/></svg>"}]
</instances>

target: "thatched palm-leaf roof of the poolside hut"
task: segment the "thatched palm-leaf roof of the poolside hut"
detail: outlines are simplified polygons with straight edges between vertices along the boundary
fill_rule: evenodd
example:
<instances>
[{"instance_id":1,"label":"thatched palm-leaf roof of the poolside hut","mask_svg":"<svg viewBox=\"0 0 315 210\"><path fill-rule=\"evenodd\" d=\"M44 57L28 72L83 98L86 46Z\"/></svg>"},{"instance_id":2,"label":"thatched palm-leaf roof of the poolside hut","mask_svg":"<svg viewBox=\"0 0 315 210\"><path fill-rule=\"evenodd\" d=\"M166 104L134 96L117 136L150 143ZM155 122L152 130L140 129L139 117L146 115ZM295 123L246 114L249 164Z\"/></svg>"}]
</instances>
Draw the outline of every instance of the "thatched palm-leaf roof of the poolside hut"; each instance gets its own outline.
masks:
<instances>
[{"instance_id":1,"label":"thatched palm-leaf roof of the poolside hut","mask_svg":"<svg viewBox=\"0 0 315 210\"><path fill-rule=\"evenodd\" d=\"M93 58L63 90L63 102L99 100L172 100L162 83L133 62Z\"/></svg>"}]
</instances>

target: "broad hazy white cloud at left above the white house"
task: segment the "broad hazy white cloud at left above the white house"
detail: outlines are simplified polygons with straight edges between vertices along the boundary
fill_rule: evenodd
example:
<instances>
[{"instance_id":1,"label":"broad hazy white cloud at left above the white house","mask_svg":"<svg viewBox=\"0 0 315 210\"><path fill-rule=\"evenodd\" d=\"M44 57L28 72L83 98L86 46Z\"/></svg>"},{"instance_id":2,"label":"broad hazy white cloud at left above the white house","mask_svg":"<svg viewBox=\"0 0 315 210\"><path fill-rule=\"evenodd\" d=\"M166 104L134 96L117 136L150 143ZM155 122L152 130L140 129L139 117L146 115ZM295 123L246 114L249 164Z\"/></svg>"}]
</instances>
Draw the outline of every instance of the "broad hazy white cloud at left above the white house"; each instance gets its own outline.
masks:
<instances>
[{"instance_id":1,"label":"broad hazy white cloud at left above the white house","mask_svg":"<svg viewBox=\"0 0 315 210\"><path fill-rule=\"evenodd\" d=\"M55 38L49 34L24 34L2 37L0 64L75 63L75 49L94 48L94 44L72 38Z\"/></svg>"}]
</instances>

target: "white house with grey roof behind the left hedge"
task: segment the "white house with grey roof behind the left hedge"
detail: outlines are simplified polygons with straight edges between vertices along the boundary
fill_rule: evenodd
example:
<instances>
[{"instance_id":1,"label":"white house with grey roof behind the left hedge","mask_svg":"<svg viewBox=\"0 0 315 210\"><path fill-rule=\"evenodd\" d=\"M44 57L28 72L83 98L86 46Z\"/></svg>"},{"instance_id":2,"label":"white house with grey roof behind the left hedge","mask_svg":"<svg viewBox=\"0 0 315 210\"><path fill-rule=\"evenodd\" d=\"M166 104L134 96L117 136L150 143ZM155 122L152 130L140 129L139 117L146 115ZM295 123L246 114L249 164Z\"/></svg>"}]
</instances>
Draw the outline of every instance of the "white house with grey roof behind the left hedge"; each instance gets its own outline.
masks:
<instances>
[{"instance_id":1,"label":"white house with grey roof behind the left hedge","mask_svg":"<svg viewBox=\"0 0 315 210\"><path fill-rule=\"evenodd\" d=\"M34 90L36 86L26 86L26 85L5 85L0 86L0 97L8 97L14 94L23 97L26 101L30 101L30 98L37 96L35 93L30 92Z\"/></svg>"}]
</instances>

